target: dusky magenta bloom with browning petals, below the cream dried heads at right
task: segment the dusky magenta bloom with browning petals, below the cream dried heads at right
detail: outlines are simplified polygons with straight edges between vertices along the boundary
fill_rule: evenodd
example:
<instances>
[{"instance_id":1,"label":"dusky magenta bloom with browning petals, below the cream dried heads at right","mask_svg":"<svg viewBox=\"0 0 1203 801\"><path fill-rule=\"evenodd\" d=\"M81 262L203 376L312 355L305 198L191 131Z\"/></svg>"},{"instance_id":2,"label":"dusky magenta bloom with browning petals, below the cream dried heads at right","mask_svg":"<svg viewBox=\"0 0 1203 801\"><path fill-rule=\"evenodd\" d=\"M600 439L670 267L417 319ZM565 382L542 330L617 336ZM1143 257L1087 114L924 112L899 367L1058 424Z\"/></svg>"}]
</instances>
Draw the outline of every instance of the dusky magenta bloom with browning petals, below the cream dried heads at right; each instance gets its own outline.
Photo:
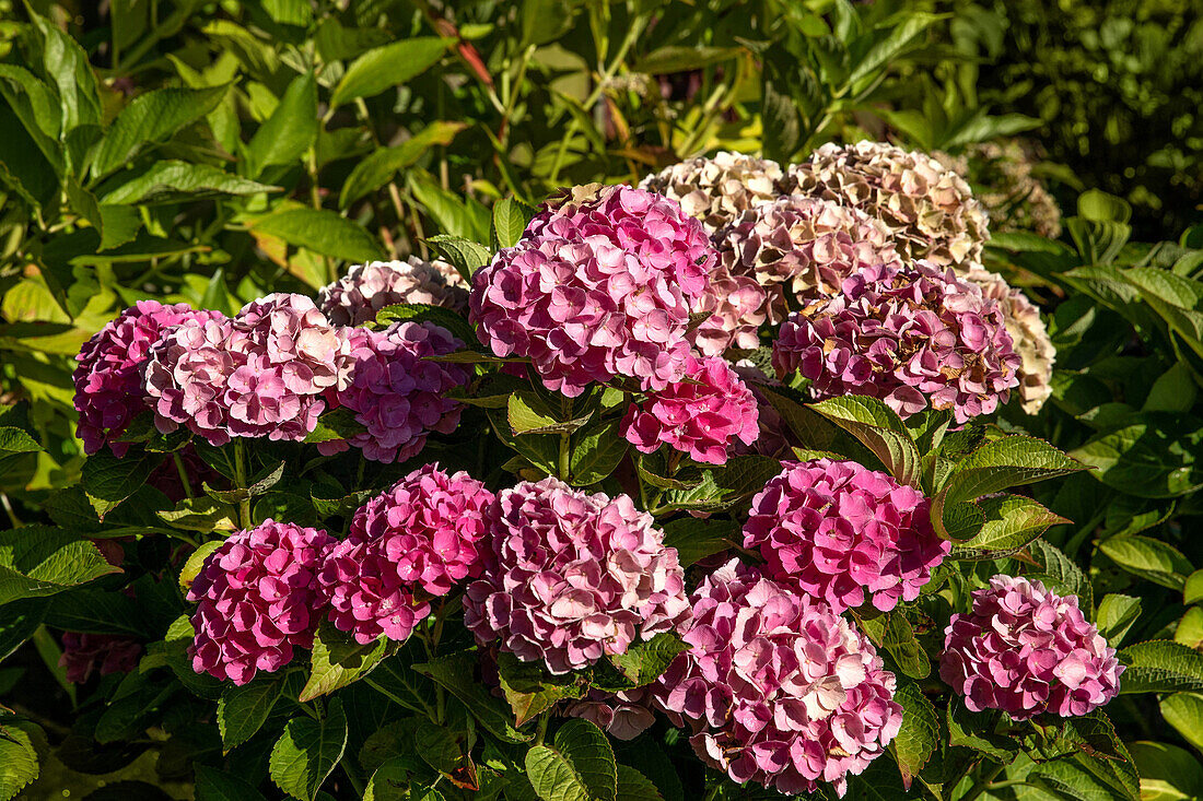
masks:
<instances>
[{"instance_id":1,"label":"dusky magenta bloom with browning petals, below the cream dried heads at right","mask_svg":"<svg viewBox=\"0 0 1203 801\"><path fill-rule=\"evenodd\" d=\"M930 404L964 423L1007 402L1021 360L998 303L952 269L915 262L894 277L863 271L790 314L772 363L778 375L801 372L819 399L872 396L903 417Z\"/></svg>"}]
</instances>

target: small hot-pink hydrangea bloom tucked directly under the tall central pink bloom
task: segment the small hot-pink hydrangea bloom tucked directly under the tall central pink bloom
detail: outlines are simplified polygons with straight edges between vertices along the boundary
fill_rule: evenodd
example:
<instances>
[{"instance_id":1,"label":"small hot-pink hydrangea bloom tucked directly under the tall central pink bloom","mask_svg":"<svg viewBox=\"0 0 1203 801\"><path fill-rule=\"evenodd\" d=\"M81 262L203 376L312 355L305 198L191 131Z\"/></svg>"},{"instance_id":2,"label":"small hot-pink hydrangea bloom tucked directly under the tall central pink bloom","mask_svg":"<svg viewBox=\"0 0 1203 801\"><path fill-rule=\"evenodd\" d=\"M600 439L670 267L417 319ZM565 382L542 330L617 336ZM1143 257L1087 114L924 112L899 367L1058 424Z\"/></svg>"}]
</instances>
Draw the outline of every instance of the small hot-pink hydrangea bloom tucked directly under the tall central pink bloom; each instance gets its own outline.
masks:
<instances>
[{"instance_id":1,"label":"small hot-pink hydrangea bloom tucked directly under the tall central pink bloom","mask_svg":"<svg viewBox=\"0 0 1203 801\"><path fill-rule=\"evenodd\" d=\"M685 378L632 405L622 434L645 453L660 445L675 447L698 462L724 464L736 443L751 445L760 434L752 391L718 356L686 361Z\"/></svg>"}]
</instances>

